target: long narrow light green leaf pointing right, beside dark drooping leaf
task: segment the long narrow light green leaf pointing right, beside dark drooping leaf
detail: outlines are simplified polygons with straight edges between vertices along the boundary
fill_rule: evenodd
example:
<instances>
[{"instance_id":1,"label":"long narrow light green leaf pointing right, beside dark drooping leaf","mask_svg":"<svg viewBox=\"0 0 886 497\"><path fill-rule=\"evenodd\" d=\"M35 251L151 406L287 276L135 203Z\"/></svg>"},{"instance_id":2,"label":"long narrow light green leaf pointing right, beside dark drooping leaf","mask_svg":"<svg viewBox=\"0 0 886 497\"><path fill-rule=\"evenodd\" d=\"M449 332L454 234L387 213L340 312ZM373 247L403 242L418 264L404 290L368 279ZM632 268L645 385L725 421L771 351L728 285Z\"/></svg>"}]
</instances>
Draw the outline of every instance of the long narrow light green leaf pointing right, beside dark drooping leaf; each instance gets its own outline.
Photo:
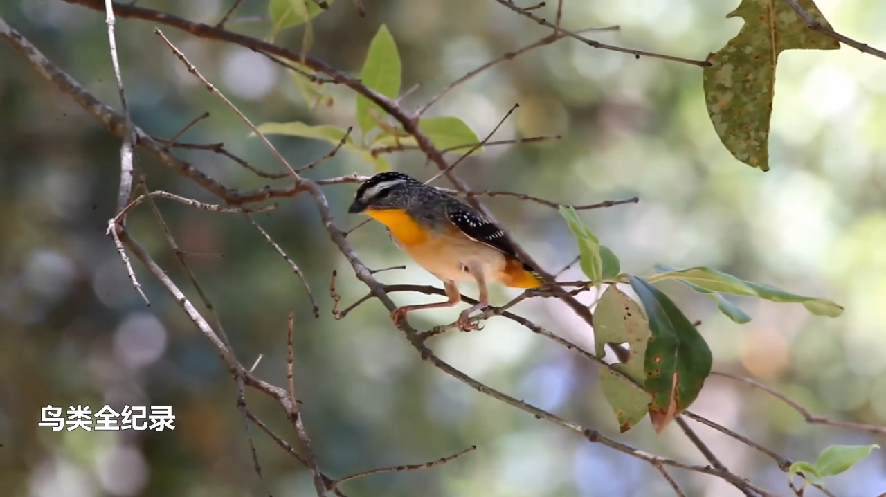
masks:
<instances>
[{"instance_id":1,"label":"long narrow light green leaf pointing right, beside dark drooping leaf","mask_svg":"<svg viewBox=\"0 0 886 497\"><path fill-rule=\"evenodd\" d=\"M701 287L705 290L743 295L745 297L758 297L759 299L772 300L773 302L803 304L813 315L837 317L843 314L843 307L838 306L831 300L805 297L796 293L790 293L789 291L783 291L768 284L743 281L716 269L701 267L677 269L664 264L658 264L656 271L659 274L651 276L649 278L650 282L676 278L683 283L694 283L695 286L690 285L690 288L696 291L698 291L698 287Z\"/></svg>"}]
</instances>

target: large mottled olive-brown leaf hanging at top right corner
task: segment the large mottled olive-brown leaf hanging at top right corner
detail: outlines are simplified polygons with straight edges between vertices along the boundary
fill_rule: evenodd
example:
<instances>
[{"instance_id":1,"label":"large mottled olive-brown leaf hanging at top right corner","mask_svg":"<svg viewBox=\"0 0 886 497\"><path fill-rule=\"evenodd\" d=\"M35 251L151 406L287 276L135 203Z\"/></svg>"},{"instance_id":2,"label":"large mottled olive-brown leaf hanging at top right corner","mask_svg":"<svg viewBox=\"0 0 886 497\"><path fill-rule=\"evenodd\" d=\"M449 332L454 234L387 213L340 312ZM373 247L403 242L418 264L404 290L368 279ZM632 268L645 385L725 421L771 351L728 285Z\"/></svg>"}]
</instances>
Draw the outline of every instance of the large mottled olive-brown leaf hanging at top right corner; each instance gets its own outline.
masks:
<instances>
[{"instance_id":1,"label":"large mottled olive-brown leaf hanging at top right corner","mask_svg":"<svg viewBox=\"0 0 886 497\"><path fill-rule=\"evenodd\" d=\"M830 29L812 0L797 4ZM708 56L704 67L705 103L714 130L735 159L769 170L769 124L775 96L775 65L783 50L840 48L833 38L813 31L787 2L742 0L727 18L744 26L725 47Z\"/></svg>"}]
</instances>

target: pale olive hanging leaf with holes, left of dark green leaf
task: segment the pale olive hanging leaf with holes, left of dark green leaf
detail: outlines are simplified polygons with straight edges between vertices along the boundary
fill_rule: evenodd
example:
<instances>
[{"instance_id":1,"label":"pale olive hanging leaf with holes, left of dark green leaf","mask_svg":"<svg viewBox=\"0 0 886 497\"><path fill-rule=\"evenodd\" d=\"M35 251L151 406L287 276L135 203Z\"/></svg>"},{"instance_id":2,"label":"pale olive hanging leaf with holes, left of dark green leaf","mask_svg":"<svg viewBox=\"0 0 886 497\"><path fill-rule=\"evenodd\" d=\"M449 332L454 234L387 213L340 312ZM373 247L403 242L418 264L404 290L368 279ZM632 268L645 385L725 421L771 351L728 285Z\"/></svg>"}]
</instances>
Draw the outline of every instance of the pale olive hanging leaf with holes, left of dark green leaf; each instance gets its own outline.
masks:
<instances>
[{"instance_id":1,"label":"pale olive hanging leaf with holes, left of dark green leaf","mask_svg":"<svg viewBox=\"0 0 886 497\"><path fill-rule=\"evenodd\" d=\"M612 365L625 377L609 368L597 368L603 394L615 411L618 430L622 433L640 423L649 410L649 393L641 386L645 377L643 358L649 337L649 326L640 306L618 290L616 285L610 285L595 307L594 342L598 357L605 353L603 347L606 344L627 343L630 346L627 361Z\"/></svg>"}]
</instances>

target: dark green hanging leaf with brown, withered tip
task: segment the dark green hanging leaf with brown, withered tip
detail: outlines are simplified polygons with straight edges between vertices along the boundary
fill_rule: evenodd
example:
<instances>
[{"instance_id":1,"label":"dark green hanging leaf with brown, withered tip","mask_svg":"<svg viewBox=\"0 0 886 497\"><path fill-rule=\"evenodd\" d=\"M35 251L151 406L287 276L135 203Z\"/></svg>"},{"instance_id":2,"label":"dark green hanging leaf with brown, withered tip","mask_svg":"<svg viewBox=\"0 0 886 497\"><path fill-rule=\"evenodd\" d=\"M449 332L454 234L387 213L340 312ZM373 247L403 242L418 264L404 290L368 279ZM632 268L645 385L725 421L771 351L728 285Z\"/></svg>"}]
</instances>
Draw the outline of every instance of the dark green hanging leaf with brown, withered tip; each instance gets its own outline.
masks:
<instances>
[{"instance_id":1,"label":"dark green hanging leaf with brown, withered tip","mask_svg":"<svg viewBox=\"0 0 886 497\"><path fill-rule=\"evenodd\" d=\"M667 295L628 275L646 310L652 337L646 347L643 384L652 396L649 419L658 433L686 410L711 374L711 348Z\"/></svg>"}]
</instances>

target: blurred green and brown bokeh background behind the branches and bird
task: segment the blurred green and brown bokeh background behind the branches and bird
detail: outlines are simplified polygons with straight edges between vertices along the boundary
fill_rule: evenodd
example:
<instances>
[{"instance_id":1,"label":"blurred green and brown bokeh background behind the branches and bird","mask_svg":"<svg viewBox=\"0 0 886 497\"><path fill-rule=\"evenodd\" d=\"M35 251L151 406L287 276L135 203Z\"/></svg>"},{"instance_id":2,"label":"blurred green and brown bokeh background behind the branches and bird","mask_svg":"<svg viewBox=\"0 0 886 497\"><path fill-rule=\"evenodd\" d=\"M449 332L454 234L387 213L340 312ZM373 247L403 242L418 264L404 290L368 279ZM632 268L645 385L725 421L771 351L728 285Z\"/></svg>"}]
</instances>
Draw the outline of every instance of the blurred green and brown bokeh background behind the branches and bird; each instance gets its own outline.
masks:
<instances>
[{"instance_id":1,"label":"blurred green and brown bokeh background behind the branches and bird","mask_svg":"<svg viewBox=\"0 0 886 497\"><path fill-rule=\"evenodd\" d=\"M403 101L424 104L448 82L501 53L546 35L532 21L492 0L334 2L315 19L312 55L357 74L369 39L390 27L403 60ZM549 4L555 4L550 2ZM564 26L619 25L595 36L608 43L703 59L737 33L723 0L566 0ZM845 35L886 47L886 4L819 0ZM144 0L140 6L214 23L227 0ZM267 35L265 0L247 0L230 28ZM553 16L552 7L540 14ZM4 0L0 15L58 66L118 106L104 13L56 0ZM205 111L212 117L183 138L224 142L258 167L273 157L221 102L206 92L152 34L153 25L120 19L117 43L136 123L170 137ZM254 122L354 123L354 94L331 87L333 105L312 111L291 77L266 58L163 28L210 81ZM298 48L300 29L277 40ZM789 291L834 299L838 319L798 305L738 300L753 317L740 326L710 300L664 288L711 344L715 369L771 384L812 412L886 423L886 61L842 50L790 50L779 59L771 136L772 171L732 158L719 143L703 104L702 73L652 58L595 50L571 40L534 50L451 92L430 115L455 115L485 136L514 103L519 110L496 138L561 134L558 142L489 147L460 173L477 190L515 190L584 204L638 195L639 204L584 212L583 219L621 258L648 274L652 265L708 265ZM328 144L275 137L295 165ZM119 182L119 145L97 120L58 93L10 46L0 43L0 488L33 497L242 496L265 494L253 464L236 384L214 349L175 302L137 263L152 307L131 287L113 242L105 237ZM228 159L180 151L230 186L266 184ZM434 173L416 152L390 157L394 168ZM150 155L139 166L152 189L214 201ZM320 178L368 175L372 165L342 152L311 171ZM445 182L440 182L445 184ZM326 193L340 226L352 186ZM362 478L348 495L647 497L672 495L649 464L583 441L478 394L423 363L375 300L343 321L333 319L330 274L338 269L343 304L365 293L334 249L307 198L285 200L257 220L305 271L322 307L315 319L301 283L239 214L210 214L158 200L199 281L219 309L237 356L259 354L260 377L284 383L286 315L296 311L296 390L324 471L341 477L386 465L424 462L471 444L478 450L428 470ZM514 198L487 205L548 270L577 253L556 210ZM187 287L150 207L130 214L134 236ZM439 284L408 262L377 224L349 238L385 283ZM564 279L579 279L578 269ZM468 287L469 294L474 291ZM193 291L189 295L196 297ZM494 302L515 295L494 290ZM395 294L399 303L437 297ZM582 296L590 301L591 296ZM196 300L195 300L196 302ZM535 299L517 311L579 344L591 330L561 303ZM455 311L418 313L419 329L451 322ZM656 437L648 421L618 435L596 371L562 347L495 319L470 334L435 338L433 348L479 380L636 447L704 463L680 429ZM283 412L256 392L253 410L294 440ZM175 431L51 431L40 408L106 403L169 405ZM762 392L711 378L693 410L793 459L814 460L829 444L883 443L858 432L804 423ZM703 426L696 430L722 461L787 495L786 475L750 448ZM253 429L253 433L256 431ZM311 495L309 473L263 434L255 440L274 495ZM673 470L688 495L740 495L717 478ZM829 483L838 495L886 492L881 451ZM810 491L812 493L816 491Z\"/></svg>"}]
</instances>

